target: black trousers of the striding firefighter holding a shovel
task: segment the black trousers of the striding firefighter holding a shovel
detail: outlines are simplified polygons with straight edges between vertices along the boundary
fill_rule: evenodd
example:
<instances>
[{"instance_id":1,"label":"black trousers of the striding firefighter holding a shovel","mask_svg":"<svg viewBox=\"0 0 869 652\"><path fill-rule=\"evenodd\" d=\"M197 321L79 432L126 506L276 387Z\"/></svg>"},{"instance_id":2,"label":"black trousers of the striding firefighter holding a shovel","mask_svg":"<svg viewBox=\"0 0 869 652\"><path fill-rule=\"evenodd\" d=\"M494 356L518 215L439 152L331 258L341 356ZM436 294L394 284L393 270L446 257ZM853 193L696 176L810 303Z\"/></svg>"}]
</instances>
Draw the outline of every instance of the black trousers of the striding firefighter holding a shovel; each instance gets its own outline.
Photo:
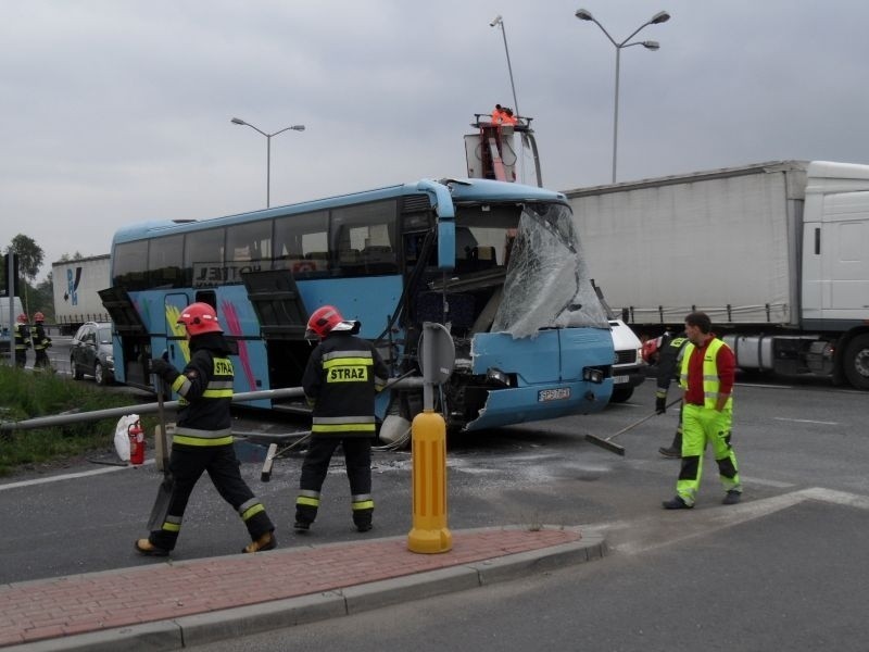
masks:
<instances>
[{"instance_id":1,"label":"black trousers of the striding firefighter holding a shovel","mask_svg":"<svg viewBox=\"0 0 869 652\"><path fill-rule=\"evenodd\" d=\"M207 472L221 497L239 513L252 541L275 530L265 507L241 477L232 444L173 446L169 471L172 472L173 487L168 514L161 529L152 531L150 536L151 543L158 548L164 550L175 548L187 502L204 472Z\"/></svg>"}]
</instances>

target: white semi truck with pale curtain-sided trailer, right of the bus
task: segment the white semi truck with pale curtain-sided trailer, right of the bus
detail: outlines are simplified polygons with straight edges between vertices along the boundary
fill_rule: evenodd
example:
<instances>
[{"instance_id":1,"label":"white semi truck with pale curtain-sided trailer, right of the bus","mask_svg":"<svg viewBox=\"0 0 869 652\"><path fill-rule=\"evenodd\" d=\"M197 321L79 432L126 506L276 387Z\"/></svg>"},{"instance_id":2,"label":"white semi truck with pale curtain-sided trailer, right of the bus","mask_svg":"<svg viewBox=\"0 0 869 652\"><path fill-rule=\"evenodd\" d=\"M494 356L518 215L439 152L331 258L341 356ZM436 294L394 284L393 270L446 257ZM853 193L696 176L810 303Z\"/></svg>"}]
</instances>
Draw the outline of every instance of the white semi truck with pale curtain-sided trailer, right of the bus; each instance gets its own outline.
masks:
<instances>
[{"instance_id":1,"label":"white semi truck with pale curtain-sided trailer, right of the bus","mask_svg":"<svg viewBox=\"0 0 869 652\"><path fill-rule=\"evenodd\" d=\"M777 161L565 191L640 335L702 310L741 368L869 389L869 165Z\"/></svg>"}]
</instances>

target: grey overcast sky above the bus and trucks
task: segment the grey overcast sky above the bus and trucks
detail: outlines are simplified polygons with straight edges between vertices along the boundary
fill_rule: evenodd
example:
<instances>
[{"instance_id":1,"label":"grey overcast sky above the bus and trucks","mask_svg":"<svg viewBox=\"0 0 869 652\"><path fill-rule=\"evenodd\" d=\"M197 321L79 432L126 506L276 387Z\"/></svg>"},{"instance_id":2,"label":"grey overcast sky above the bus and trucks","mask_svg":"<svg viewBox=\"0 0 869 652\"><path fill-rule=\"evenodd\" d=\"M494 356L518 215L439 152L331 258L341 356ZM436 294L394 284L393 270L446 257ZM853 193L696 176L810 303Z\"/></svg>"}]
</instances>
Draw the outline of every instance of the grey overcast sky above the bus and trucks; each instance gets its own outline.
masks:
<instances>
[{"instance_id":1,"label":"grey overcast sky above the bus and trucks","mask_svg":"<svg viewBox=\"0 0 869 652\"><path fill-rule=\"evenodd\" d=\"M869 163L867 0L0 0L0 246L109 253L204 218L466 173L474 113L533 117L543 181Z\"/></svg>"}]
</instances>

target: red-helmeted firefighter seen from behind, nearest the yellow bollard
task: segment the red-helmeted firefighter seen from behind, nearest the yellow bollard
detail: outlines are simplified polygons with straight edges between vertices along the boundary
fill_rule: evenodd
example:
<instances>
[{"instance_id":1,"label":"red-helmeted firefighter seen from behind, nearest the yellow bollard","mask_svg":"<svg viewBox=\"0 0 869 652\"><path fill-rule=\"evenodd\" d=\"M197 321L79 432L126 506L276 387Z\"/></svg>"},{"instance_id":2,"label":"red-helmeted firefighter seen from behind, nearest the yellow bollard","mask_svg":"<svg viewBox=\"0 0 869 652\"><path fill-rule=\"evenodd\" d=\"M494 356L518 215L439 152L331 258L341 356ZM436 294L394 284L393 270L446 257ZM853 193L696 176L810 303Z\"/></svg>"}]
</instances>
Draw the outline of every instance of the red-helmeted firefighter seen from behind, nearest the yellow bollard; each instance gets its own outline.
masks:
<instances>
[{"instance_id":1,"label":"red-helmeted firefighter seen from behind, nearest the yellow bollard","mask_svg":"<svg viewBox=\"0 0 869 652\"><path fill-rule=\"evenodd\" d=\"M324 305L307 321L306 337L320 342L311 353L302 387L313 408L311 442L302 463L295 524L311 528L320 504L320 489L335 450L341 444L350 480L353 524L371 529L371 439L375 437L375 393L389 371L375 347L356 337L358 322L348 322L338 310Z\"/></svg>"}]
</instances>

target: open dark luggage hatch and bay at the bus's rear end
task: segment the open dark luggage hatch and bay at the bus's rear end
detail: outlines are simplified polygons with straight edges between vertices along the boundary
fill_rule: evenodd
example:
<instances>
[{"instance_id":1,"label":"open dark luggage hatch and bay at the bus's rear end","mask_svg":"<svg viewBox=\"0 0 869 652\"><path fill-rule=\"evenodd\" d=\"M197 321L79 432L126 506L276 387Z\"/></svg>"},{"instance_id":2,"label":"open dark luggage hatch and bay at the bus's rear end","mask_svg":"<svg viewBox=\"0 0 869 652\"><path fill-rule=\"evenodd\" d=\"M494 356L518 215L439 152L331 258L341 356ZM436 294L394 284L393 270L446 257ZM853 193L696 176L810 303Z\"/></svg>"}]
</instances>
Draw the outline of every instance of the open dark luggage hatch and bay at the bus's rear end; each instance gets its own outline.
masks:
<instances>
[{"instance_id":1,"label":"open dark luggage hatch and bay at the bus's rear end","mask_svg":"<svg viewBox=\"0 0 869 652\"><path fill-rule=\"evenodd\" d=\"M150 389L148 362L152 358L151 337L133 300L121 287L100 290L98 294L114 324L115 379Z\"/></svg>"}]
</instances>

